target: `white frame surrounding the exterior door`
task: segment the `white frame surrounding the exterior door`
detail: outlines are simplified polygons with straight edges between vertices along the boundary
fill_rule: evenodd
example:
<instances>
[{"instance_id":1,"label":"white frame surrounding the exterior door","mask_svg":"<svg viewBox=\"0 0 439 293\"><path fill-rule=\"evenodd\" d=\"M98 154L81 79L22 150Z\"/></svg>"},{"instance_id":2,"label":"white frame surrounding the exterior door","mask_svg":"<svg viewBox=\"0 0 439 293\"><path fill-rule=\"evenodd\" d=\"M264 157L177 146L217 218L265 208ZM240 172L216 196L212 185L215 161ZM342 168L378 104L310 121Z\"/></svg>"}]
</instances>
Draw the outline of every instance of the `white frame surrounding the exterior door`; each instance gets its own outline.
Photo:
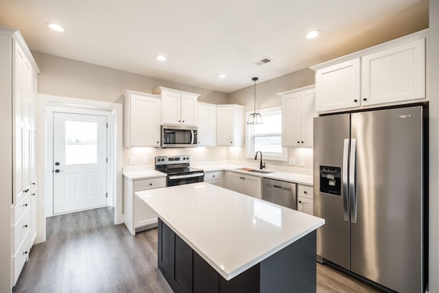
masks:
<instances>
[{"instance_id":1,"label":"white frame surrounding the exterior door","mask_svg":"<svg viewBox=\"0 0 439 293\"><path fill-rule=\"evenodd\" d=\"M112 167L112 145L111 145L111 135L110 135L110 119L111 113L109 110L99 108L99 110L91 110L91 108L84 106L71 106L64 105L58 106L53 105L53 103L47 104L46 107L46 139L47 139L47 148L46 148L46 217L51 217L53 215L61 215L62 213L54 214L54 114L55 113L63 113L63 114L77 114L77 115L95 115L95 116L105 116L107 119L107 141L106 141L106 157L108 158L108 163L106 164L106 192L108 193L106 206L114 207L115 204L115 196L112 190L112 176L111 176L111 167ZM95 209L95 208L91 208ZM74 211L68 211L66 213L73 213Z\"/></svg>"}]
</instances>

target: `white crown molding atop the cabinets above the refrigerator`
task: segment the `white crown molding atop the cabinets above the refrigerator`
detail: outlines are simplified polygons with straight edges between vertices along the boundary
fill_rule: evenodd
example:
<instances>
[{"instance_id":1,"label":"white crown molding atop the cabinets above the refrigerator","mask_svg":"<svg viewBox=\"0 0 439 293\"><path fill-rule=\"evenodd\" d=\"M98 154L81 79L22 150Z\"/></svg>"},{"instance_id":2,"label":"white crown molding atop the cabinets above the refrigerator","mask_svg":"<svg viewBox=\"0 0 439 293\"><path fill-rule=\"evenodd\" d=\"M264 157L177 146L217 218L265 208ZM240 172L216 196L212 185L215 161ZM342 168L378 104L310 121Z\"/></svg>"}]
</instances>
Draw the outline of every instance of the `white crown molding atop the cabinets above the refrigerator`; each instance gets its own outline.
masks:
<instances>
[{"instance_id":1,"label":"white crown molding atop the cabinets above the refrigerator","mask_svg":"<svg viewBox=\"0 0 439 293\"><path fill-rule=\"evenodd\" d=\"M319 69L329 67L331 65L336 65L341 62L345 62L348 60L353 60L355 58L361 58L363 56L376 53L377 51L382 51L385 49L389 49L398 45L403 45L405 43L410 43L413 40L419 40L420 38L426 38L428 36L429 29L420 30L419 32L414 32L413 34L407 34L407 36L401 36L400 38L395 38L394 40L388 40L385 43L381 43L372 47L368 47L366 49L362 49L360 51L356 51L354 53L335 58L326 62L322 62L318 65L313 65L309 67L313 69L313 71L318 71Z\"/></svg>"}]
</instances>

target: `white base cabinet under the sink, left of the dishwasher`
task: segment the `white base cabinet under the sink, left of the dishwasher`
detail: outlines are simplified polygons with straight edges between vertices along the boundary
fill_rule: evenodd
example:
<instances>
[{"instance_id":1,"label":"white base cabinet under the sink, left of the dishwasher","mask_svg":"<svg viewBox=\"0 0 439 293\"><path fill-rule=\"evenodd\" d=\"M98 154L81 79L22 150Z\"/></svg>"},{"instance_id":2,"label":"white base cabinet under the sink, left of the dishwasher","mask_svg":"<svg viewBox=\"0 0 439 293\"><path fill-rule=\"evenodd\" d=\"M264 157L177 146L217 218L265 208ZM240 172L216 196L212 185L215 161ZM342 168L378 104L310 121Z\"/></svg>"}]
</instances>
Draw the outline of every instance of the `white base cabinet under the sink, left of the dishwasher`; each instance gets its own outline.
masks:
<instances>
[{"instance_id":1,"label":"white base cabinet under the sink, left of the dishwasher","mask_svg":"<svg viewBox=\"0 0 439 293\"><path fill-rule=\"evenodd\" d=\"M262 198L262 180L258 176L226 172L226 188L254 198Z\"/></svg>"}]
</instances>

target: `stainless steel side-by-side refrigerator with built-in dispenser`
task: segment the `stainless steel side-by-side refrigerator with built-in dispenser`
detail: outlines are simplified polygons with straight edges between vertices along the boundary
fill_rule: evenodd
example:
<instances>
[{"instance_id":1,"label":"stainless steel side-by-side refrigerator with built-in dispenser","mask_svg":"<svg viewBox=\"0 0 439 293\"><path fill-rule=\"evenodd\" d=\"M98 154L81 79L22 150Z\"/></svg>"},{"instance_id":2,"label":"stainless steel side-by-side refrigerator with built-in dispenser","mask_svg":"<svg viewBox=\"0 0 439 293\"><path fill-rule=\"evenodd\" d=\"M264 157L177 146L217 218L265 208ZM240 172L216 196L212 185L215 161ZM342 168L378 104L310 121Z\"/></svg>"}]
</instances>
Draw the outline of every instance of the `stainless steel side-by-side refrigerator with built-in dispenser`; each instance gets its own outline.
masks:
<instances>
[{"instance_id":1,"label":"stainless steel side-by-side refrigerator with built-in dispenser","mask_svg":"<svg viewBox=\"0 0 439 293\"><path fill-rule=\"evenodd\" d=\"M423 292L423 106L314 119L317 254L397 292Z\"/></svg>"}]
</instances>

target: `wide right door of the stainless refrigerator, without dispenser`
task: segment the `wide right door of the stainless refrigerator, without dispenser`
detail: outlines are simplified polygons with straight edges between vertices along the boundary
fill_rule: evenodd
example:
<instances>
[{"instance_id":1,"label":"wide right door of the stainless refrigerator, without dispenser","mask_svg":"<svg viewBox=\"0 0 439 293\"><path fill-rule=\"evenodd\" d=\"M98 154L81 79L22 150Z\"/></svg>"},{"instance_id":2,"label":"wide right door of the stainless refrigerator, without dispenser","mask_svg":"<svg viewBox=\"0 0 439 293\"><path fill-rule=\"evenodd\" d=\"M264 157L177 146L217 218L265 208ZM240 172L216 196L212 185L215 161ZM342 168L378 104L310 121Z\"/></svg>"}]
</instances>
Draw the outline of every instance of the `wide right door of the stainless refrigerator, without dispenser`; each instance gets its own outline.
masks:
<instances>
[{"instance_id":1,"label":"wide right door of the stainless refrigerator, without dispenser","mask_svg":"<svg viewBox=\"0 0 439 293\"><path fill-rule=\"evenodd\" d=\"M357 144L351 270L397 292L422 291L422 110L351 115Z\"/></svg>"}]
</instances>

